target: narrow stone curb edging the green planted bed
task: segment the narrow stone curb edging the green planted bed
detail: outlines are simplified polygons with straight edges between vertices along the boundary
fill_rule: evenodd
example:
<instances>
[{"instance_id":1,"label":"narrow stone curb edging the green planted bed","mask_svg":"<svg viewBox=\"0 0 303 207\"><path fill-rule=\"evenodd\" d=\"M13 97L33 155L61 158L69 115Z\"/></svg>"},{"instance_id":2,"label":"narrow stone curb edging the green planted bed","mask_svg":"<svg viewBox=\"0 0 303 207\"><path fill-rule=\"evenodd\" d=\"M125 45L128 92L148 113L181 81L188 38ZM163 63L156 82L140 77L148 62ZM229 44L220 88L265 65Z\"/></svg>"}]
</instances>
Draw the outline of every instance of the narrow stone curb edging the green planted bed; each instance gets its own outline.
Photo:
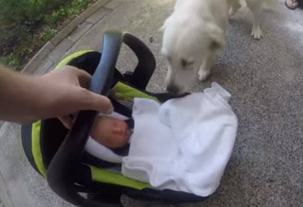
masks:
<instances>
[{"instance_id":1,"label":"narrow stone curb edging the green planted bed","mask_svg":"<svg viewBox=\"0 0 303 207\"><path fill-rule=\"evenodd\" d=\"M36 55L25 65L21 73L32 73L43 62L43 60L49 55L49 53L63 41L77 26L96 11L101 9L105 4L111 0L98 0L90 7L88 7L82 14L76 17L73 21L68 23L53 39L46 42L44 46L36 53Z\"/></svg>"}]
</instances>

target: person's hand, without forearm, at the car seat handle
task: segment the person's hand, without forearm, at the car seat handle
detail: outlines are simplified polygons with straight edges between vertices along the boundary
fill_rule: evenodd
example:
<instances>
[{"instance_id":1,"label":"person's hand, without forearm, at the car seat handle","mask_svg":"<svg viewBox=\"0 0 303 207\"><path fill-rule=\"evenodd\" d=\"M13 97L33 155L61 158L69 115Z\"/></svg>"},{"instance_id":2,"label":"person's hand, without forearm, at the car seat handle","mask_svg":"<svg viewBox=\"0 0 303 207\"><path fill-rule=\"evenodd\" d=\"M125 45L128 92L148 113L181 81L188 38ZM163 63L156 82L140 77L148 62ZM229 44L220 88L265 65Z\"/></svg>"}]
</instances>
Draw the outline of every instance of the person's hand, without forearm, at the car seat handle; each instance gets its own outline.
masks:
<instances>
[{"instance_id":1,"label":"person's hand, without forearm, at the car seat handle","mask_svg":"<svg viewBox=\"0 0 303 207\"><path fill-rule=\"evenodd\" d=\"M39 117L58 117L70 129L80 110L111 113L113 106L107 97L87 90L90 79L86 71L72 66L63 66L39 77L38 94L43 101L37 106Z\"/></svg>"}]
</instances>

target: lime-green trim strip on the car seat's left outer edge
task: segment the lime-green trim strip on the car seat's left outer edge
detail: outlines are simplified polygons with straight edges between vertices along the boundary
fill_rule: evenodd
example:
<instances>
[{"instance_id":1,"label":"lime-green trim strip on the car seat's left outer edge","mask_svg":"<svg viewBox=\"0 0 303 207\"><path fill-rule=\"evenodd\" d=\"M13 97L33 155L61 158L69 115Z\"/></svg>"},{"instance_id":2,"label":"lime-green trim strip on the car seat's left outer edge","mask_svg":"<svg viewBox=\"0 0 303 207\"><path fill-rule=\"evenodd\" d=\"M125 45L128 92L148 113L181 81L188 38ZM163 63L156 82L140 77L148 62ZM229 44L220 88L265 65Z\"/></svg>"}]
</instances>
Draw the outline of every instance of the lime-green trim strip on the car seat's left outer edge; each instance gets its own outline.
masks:
<instances>
[{"instance_id":1,"label":"lime-green trim strip on the car seat's left outer edge","mask_svg":"<svg viewBox=\"0 0 303 207\"><path fill-rule=\"evenodd\" d=\"M46 177L46 168L43 164L43 158L41 153L40 129L41 120L32 124L32 153L39 172L43 175L43 177Z\"/></svg>"}]
</instances>

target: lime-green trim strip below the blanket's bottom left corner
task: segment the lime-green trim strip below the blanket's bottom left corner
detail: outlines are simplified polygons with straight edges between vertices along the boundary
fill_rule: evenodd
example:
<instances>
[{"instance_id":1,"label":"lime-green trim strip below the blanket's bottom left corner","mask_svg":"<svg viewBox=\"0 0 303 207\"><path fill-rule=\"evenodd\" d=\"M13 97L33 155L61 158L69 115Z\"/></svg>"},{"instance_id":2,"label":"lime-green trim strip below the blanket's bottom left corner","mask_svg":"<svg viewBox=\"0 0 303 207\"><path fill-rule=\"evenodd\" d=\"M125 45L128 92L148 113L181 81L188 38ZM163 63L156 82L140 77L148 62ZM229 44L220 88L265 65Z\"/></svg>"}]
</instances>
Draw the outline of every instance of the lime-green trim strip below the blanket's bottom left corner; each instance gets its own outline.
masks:
<instances>
[{"instance_id":1,"label":"lime-green trim strip below the blanket's bottom left corner","mask_svg":"<svg viewBox=\"0 0 303 207\"><path fill-rule=\"evenodd\" d=\"M119 173L110 172L105 169L100 169L94 166L89 166L91 170L92 180L99 183L114 184L118 186L132 187L138 190L150 188L151 185L140 181L132 180L124 177Z\"/></svg>"}]
</instances>

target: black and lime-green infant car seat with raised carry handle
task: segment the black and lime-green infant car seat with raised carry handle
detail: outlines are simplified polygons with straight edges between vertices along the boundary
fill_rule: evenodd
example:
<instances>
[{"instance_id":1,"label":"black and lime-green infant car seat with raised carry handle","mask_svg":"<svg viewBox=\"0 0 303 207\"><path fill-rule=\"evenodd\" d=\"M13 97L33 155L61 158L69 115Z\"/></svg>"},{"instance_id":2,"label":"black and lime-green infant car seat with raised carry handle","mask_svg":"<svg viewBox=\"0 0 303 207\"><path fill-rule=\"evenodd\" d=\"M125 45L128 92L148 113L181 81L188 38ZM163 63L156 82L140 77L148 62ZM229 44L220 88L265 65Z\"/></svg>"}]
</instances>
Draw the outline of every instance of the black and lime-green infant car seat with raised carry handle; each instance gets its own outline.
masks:
<instances>
[{"instance_id":1,"label":"black and lime-green infant car seat with raised carry handle","mask_svg":"<svg viewBox=\"0 0 303 207\"><path fill-rule=\"evenodd\" d=\"M115 68L122 42L138 58L134 71L123 74ZM176 98L167 93L154 94L145 90L155 69L155 59L149 48L130 33L106 32L102 54L80 51L65 58L55 69L62 65L76 66L90 73L90 90L109 96L115 110L129 117L131 109L119 101L131 103L133 98L140 97L165 102ZM22 125L22 145L29 162L47 178L51 189L60 197L81 207L122 207L122 194L169 204L206 199L185 192L153 189L148 183L108 170L108 166L116 164L101 161L84 151L97 114L96 111L81 111L70 131L56 118Z\"/></svg>"}]
</instances>

